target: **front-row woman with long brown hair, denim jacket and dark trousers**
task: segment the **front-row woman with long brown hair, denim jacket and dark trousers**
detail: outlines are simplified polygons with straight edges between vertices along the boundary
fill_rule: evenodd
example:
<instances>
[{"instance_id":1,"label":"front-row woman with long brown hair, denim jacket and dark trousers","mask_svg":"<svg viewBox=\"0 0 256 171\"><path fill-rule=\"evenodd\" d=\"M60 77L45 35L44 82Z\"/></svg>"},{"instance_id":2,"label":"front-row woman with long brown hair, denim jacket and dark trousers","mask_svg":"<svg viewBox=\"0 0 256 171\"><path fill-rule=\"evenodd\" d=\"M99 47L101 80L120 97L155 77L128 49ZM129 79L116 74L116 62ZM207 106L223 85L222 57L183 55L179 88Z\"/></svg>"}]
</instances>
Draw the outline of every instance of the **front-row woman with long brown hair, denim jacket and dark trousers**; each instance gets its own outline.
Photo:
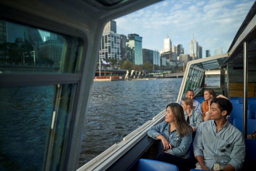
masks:
<instances>
[{"instance_id":1,"label":"front-row woman with long brown hair, denim jacket and dark trousers","mask_svg":"<svg viewBox=\"0 0 256 171\"><path fill-rule=\"evenodd\" d=\"M165 121L152 126L147 134L161 140L156 160L175 164L179 170L191 169L189 146L192 142L192 128L185 120L181 105L168 104Z\"/></svg>"}]
</instances>

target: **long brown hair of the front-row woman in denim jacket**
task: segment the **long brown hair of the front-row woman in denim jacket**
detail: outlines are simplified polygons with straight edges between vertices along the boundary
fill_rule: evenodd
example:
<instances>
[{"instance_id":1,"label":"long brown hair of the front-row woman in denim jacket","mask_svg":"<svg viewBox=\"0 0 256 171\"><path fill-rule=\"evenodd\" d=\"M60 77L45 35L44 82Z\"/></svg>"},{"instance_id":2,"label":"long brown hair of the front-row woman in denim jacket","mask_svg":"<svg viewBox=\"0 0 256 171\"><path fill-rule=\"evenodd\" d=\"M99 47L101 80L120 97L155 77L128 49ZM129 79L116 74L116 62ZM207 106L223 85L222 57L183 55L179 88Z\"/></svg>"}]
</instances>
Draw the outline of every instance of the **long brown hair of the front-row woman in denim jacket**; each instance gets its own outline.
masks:
<instances>
[{"instance_id":1,"label":"long brown hair of the front-row woman in denim jacket","mask_svg":"<svg viewBox=\"0 0 256 171\"><path fill-rule=\"evenodd\" d=\"M181 105L178 103L170 103L166 106L166 109L170 107L173 113L173 118L175 119L175 126L177 129L177 133L180 137L184 137L184 135L189 135L192 127L187 123L184 111Z\"/></svg>"}]
</instances>

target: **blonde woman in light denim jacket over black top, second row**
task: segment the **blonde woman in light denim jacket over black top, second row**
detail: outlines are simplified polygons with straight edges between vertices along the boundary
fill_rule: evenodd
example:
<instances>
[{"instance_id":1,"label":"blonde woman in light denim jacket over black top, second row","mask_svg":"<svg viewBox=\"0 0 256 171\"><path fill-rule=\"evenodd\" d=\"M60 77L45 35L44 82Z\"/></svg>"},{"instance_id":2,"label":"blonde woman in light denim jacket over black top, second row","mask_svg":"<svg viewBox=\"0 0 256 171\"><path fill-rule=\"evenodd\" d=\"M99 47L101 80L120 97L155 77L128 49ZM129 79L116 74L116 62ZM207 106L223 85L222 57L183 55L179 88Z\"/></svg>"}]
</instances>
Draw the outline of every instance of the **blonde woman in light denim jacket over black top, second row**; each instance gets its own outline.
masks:
<instances>
[{"instance_id":1,"label":"blonde woman in light denim jacket over black top, second row","mask_svg":"<svg viewBox=\"0 0 256 171\"><path fill-rule=\"evenodd\" d=\"M197 111L193 110L195 106L193 106L193 101L190 98L183 98L181 102L181 106L184 110L185 120L189 125L192 126L192 139L195 138L195 132L197 127L202 122L202 116Z\"/></svg>"}]
</instances>

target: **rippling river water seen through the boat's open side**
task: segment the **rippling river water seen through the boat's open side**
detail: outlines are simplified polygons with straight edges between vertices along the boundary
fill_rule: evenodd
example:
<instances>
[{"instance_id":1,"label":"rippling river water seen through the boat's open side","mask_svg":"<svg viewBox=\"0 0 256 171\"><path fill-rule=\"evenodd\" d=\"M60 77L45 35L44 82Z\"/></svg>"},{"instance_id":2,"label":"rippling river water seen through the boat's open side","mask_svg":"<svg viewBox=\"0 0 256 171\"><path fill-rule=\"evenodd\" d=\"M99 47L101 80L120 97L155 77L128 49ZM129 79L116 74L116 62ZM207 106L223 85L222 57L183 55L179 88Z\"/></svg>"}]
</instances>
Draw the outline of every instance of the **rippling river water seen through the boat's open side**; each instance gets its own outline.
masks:
<instances>
[{"instance_id":1,"label":"rippling river water seen through the boat's open side","mask_svg":"<svg viewBox=\"0 0 256 171\"><path fill-rule=\"evenodd\" d=\"M81 167L175 102L182 78L93 82Z\"/></svg>"}]
</instances>

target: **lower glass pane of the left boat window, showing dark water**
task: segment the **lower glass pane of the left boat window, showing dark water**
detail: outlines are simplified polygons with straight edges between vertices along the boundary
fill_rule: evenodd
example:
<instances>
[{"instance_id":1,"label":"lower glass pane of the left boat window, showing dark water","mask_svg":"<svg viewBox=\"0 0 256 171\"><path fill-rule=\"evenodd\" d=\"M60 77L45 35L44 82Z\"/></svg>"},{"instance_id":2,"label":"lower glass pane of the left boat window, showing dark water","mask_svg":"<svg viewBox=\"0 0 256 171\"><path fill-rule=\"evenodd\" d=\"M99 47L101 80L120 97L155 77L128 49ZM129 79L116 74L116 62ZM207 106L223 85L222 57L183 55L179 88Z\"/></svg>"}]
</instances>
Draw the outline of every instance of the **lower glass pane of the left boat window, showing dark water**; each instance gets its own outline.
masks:
<instances>
[{"instance_id":1,"label":"lower glass pane of the left boat window, showing dark water","mask_svg":"<svg viewBox=\"0 0 256 171\"><path fill-rule=\"evenodd\" d=\"M0 89L0 170L42 170L55 87Z\"/></svg>"}]
</instances>

